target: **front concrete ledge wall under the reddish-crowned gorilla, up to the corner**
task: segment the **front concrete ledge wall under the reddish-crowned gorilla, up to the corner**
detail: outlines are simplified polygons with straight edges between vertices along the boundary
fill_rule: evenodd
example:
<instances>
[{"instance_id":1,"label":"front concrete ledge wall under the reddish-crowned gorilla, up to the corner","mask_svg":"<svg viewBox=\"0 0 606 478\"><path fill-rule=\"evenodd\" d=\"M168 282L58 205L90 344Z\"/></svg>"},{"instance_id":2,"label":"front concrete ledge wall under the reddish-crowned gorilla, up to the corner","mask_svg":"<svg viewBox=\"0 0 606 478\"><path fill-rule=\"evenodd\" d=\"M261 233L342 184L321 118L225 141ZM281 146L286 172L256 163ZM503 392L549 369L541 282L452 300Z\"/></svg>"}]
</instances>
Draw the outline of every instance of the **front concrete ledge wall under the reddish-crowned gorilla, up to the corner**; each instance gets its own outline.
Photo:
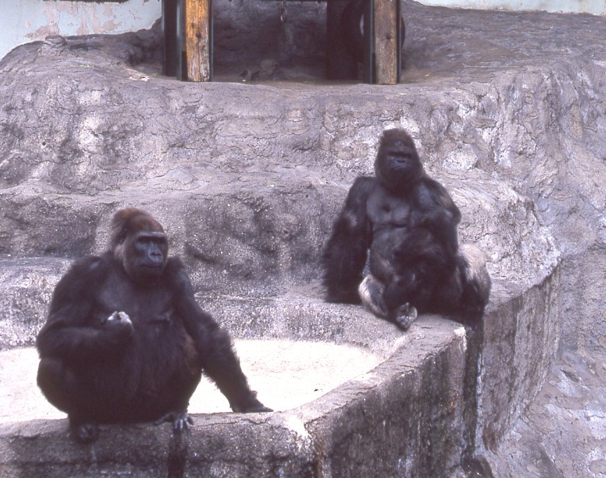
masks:
<instances>
[{"instance_id":1,"label":"front concrete ledge wall under the reddish-crowned gorilla, up to the corner","mask_svg":"<svg viewBox=\"0 0 606 478\"><path fill-rule=\"evenodd\" d=\"M406 335L372 320L351 321L350 333L370 333L373 325L391 335L384 342L395 351L309 404L270 414L195 415L184 436L174 436L169 425L104 426L88 446L69 438L67 420L7 424L0 427L0 475L328 477L431 470L443 476L465 447L464 328L427 316Z\"/></svg>"}]
</instances>

